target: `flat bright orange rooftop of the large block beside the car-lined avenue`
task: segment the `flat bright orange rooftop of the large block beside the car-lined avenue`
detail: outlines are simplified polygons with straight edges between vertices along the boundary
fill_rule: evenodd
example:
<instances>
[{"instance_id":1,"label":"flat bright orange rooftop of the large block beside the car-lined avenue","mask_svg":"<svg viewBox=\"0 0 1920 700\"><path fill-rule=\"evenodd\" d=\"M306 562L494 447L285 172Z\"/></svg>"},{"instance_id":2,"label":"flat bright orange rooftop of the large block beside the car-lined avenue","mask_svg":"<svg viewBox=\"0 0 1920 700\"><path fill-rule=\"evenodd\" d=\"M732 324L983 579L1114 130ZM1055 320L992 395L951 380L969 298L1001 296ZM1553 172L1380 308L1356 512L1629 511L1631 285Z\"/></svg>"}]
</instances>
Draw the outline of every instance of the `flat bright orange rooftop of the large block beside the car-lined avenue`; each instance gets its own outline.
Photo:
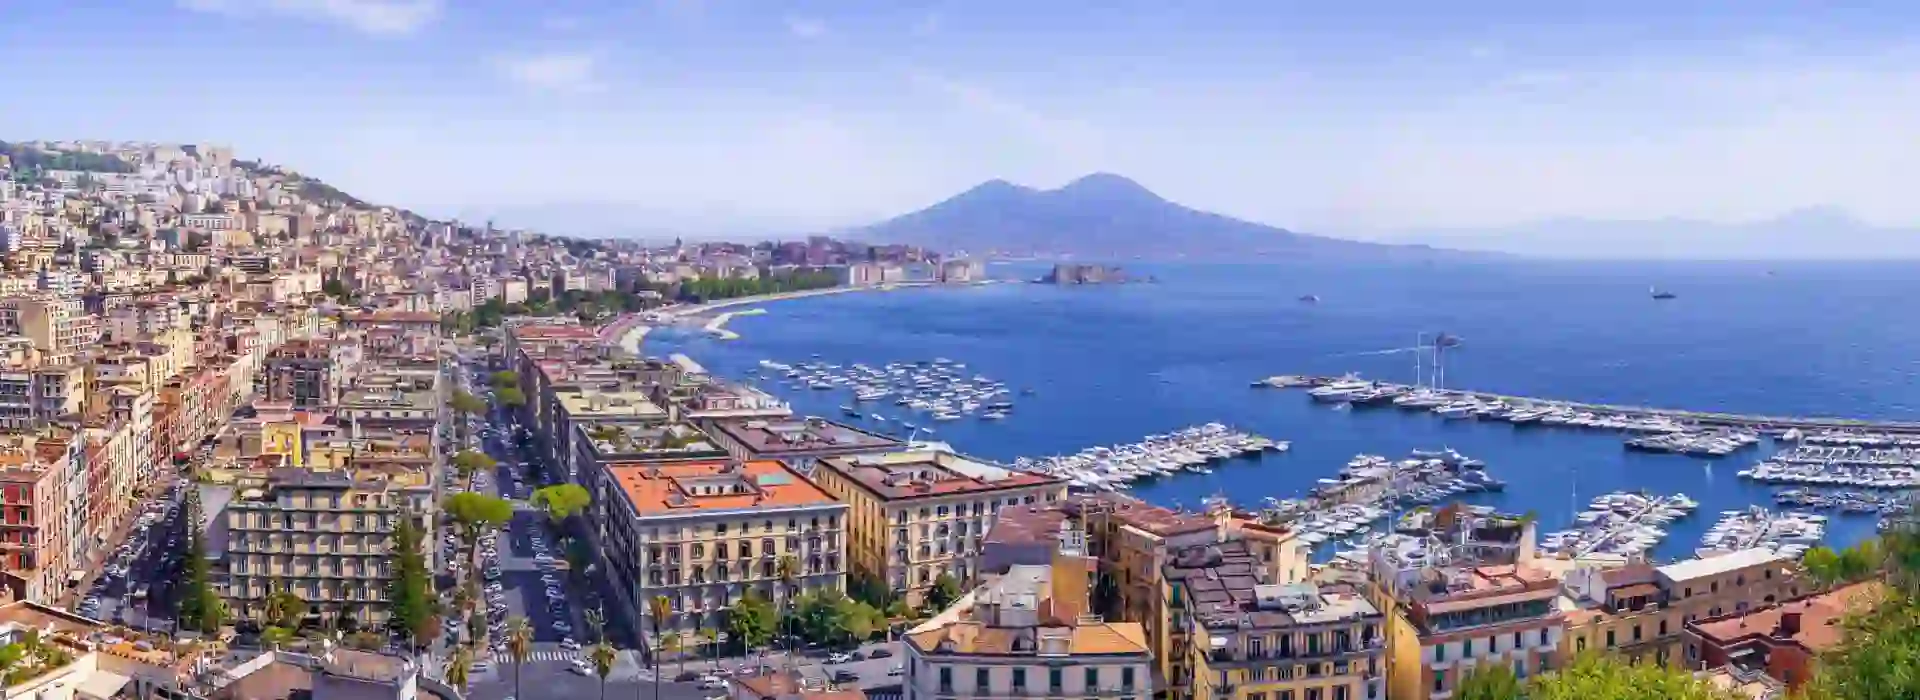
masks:
<instances>
[{"instance_id":1,"label":"flat bright orange rooftop of the large block beside the car-lined avenue","mask_svg":"<svg viewBox=\"0 0 1920 700\"><path fill-rule=\"evenodd\" d=\"M780 462L612 464L637 516L835 504L831 495Z\"/></svg>"}]
</instances>

